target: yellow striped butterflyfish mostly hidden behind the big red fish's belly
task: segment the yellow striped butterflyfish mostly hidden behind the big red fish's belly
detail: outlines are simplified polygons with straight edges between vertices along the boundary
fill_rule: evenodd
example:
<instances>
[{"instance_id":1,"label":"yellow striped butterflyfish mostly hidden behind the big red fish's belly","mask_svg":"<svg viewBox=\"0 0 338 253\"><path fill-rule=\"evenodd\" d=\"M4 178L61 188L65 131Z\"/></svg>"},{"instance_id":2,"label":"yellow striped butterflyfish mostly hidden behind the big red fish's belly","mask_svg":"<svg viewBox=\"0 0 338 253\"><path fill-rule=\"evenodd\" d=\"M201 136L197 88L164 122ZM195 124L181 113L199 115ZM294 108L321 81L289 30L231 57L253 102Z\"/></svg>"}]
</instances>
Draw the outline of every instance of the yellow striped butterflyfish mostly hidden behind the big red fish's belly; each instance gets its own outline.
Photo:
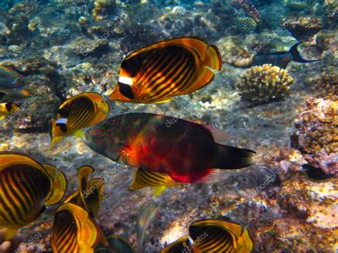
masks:
<instances>
[{"instance_id":1,"label":"yellow striped butterflyfish mostly hidden behind the big red fish's belly","mask_svg":"<svg viewBox=\"0 0 338 253\"><path fill-rule=\"evenodd\" d=\"M181 183L173 180L173 178L171 178L168 174L137 168L134 172L134 179L130 185L130 190L137 190L144 187L154 187L153 195L158 196L165 190L166 187L172 187L175 185L181 185Z\"/></svg>"}]
</instances>

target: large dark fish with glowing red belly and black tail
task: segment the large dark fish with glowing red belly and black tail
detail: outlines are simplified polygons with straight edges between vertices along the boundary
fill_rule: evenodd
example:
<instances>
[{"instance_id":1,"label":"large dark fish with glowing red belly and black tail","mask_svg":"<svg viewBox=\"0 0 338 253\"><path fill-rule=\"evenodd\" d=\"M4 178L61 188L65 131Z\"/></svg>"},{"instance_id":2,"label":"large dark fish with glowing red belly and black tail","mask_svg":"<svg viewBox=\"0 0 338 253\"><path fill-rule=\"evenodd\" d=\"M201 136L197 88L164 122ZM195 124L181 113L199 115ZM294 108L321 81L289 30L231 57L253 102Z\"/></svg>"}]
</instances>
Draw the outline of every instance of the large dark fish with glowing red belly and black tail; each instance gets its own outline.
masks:
<instances>
[{"instance_id":1,"label":"large dark fish with glowing red belly and black tail","mask_svg":"<svg viewBox=\"0 0 338 253\"><path fill-rule=\"evenodd\" d=\"M205 182L217 169L247 167L255 151L220 144L212 127L151 113L117 115L84 133L89 148L116 162L169 175L176 182Z\"/></svg>"}]
</instances>

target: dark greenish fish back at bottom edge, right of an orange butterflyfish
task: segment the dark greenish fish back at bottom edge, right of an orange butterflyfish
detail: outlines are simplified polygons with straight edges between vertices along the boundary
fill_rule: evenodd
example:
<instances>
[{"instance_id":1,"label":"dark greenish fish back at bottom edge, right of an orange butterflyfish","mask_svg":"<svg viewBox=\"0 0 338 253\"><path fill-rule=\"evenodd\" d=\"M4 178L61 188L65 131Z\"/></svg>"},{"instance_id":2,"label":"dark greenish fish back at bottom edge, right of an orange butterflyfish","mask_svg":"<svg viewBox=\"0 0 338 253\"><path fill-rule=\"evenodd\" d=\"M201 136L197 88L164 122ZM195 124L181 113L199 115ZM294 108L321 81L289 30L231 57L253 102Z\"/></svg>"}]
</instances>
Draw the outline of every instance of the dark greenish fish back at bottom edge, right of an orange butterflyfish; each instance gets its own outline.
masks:
<instances>
[{"instance_id":1,"label":"dark greenish fish back at bottom edge, right of an orange butterflyfish","mask_svg":"<svg viewBox=\"0 0 338 253\"><path fill-rule=\"evenodd\" d=\"M116 234L111 234L107 237L108 247L99 245L96 253L134 253L135 251L130 246L128 240Z\"/></svg>"}]
</instances>

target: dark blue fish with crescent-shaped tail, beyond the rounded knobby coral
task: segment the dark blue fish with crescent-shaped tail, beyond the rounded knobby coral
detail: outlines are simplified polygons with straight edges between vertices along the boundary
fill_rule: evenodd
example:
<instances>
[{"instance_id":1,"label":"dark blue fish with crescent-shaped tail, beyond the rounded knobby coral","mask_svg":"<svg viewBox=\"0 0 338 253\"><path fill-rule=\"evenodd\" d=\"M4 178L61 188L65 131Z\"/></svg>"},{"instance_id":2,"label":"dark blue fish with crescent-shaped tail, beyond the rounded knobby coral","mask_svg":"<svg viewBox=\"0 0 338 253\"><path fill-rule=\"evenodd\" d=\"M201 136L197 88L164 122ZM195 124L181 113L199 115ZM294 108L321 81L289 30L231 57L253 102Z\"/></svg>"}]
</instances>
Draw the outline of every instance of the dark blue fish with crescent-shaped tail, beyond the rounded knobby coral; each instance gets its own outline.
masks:
<instances>
[{"instance_id":1,"label":"dark blue fish with crescent-shaped tail, beyond the rounded knobby coral","mask_svg":"<svg viewBox=\"0 0 338 253\"><path fill-rule=\"evenodd\" d=\"M312 63L316 61L322 60L305 60L300 55L297 46L299 44L304 43L297 42L295 43L289 51L278 51L273 53L258 53L253 58L247 59L247 61L237 61L233 63L234 66L239 68L250 68L252 66L262 66L263 64L272 64L273 66L277 66L280 68L287 68L287 64L290 61L295 61L297 63Z\"/></svg>"}]
</instances>

